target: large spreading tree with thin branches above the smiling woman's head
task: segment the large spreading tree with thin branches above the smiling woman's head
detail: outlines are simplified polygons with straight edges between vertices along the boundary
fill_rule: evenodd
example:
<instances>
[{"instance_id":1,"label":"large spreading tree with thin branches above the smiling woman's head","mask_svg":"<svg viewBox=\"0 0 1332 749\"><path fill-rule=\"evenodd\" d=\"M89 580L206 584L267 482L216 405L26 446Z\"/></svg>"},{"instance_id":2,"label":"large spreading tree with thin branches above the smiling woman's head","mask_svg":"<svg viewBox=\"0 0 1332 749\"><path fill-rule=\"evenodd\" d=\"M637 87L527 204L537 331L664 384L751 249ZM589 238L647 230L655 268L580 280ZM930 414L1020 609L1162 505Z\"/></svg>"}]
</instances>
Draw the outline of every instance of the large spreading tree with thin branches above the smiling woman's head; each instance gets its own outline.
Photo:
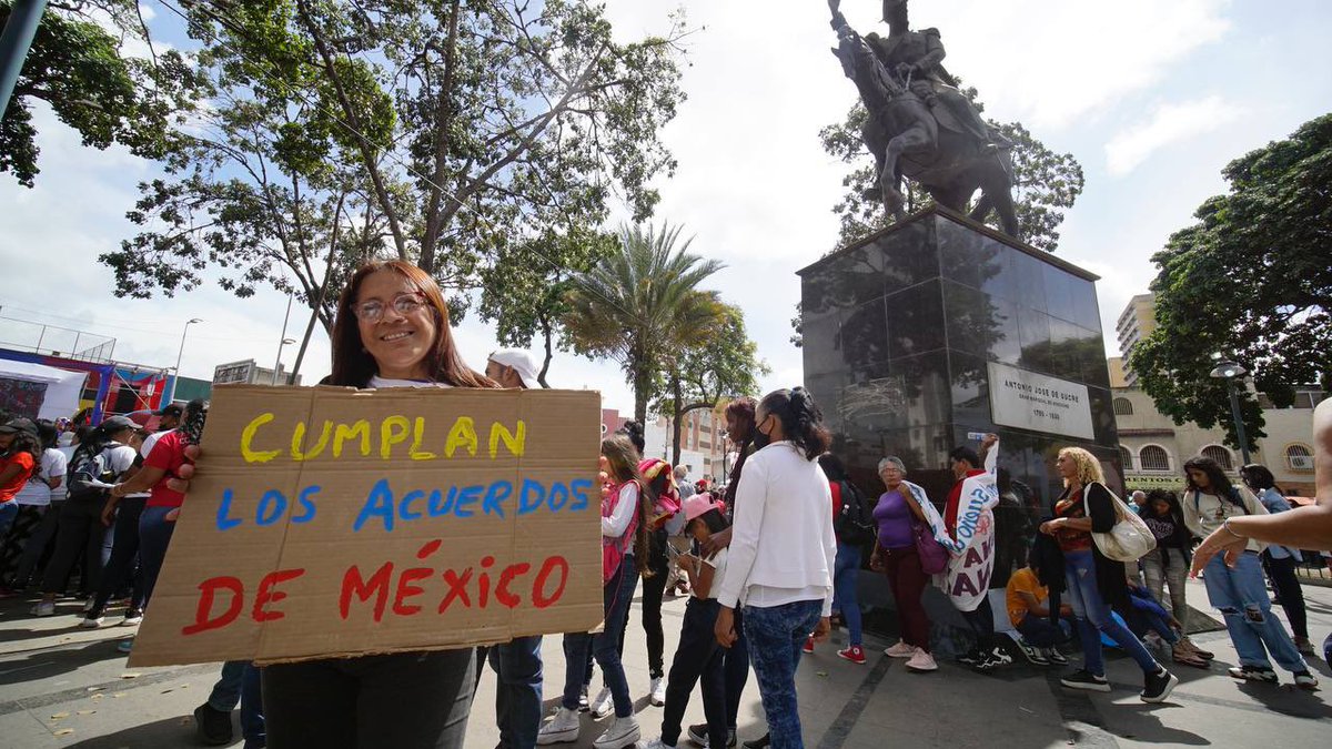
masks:
<instances>
[{"instance_id":1,"label":"large spreading tree with thin branches above the smiling woman's head","mask_svg":"<svg viewBox=\"0 0 1332 749\"><path fill-rule=\"evenodd\" d=\"M621 43L601 7L567 0L184 7L208 107L141 185L140 233L103 256L121 295L220 276L313 307L388 255L453 288L461 315L484 271L542 257L553 227L587 233L613 196L649 216L650 180L675 165L658 133L683 99L679 19ZM489 300L500 316L523 304L502 288Z\"/></svg>"}]
</instances>

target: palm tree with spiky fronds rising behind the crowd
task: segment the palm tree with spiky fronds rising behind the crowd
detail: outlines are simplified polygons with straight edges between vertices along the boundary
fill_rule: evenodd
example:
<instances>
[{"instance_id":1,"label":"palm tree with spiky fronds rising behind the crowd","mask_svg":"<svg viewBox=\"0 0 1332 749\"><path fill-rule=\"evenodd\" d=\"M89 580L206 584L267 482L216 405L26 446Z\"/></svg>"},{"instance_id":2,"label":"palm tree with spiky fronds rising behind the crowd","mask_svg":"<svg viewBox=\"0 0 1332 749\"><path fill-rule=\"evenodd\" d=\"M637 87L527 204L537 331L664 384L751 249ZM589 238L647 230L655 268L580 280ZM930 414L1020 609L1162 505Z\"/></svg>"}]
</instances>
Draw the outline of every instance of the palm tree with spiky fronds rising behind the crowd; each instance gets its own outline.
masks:
<instances>
[{"instance_id":1,"label":"palm tree with spiky fronds rising behind the crowd","mask_svg":"<svg viewBox=\"0 0 1332 749\"><path fill-rule=\"evenodd\" d=\"M634 386L634 418L647 420L666 357L697 345L725 321L717 292L698 289L722 269L719 260L677 249L681 228L622 225L619 249L573 279L565 332L574 351L610 357Z\"/></svg>"}]
</instances>

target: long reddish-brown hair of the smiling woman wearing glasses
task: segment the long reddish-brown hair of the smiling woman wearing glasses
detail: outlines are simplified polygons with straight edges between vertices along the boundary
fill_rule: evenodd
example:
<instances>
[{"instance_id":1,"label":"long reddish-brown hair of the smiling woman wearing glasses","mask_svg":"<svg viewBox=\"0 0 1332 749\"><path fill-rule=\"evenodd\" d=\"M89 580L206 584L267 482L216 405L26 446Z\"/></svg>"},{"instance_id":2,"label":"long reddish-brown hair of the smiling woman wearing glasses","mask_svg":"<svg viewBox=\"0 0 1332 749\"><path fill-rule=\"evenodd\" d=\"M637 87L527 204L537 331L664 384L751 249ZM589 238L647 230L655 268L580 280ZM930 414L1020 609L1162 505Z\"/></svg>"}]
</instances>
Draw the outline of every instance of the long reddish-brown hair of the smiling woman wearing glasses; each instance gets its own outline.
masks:
<instances>
[{"instance_id":1,"label":"long reddish-brown hair of the smiling woman wearing glasses","mask_svg":"<svg viewBox=\"0 0 1332 749\"><path fill-rule=\"evenodd\" d=\"M364 388L370 384L370 377L378 372L374 357L365 351L361 341L361 328L357 324L352 305L361 292L361 283L372 273L380 271L393 271L401 275L426 299L426 304L434 313L434 343L430 353L426 355L430 380L453 385L454 388L498 388L500 384L485 374L468 367L458 355L458 348L453 345L453 328L449 325L449 308L444 304L444 295L438 284L425 271L404 260L374 260L360 267L352 276L342 296L337 301L337 317L333 321L333 373L328 378L330 385L350 385Z\"/></svg>"}]
</instances>

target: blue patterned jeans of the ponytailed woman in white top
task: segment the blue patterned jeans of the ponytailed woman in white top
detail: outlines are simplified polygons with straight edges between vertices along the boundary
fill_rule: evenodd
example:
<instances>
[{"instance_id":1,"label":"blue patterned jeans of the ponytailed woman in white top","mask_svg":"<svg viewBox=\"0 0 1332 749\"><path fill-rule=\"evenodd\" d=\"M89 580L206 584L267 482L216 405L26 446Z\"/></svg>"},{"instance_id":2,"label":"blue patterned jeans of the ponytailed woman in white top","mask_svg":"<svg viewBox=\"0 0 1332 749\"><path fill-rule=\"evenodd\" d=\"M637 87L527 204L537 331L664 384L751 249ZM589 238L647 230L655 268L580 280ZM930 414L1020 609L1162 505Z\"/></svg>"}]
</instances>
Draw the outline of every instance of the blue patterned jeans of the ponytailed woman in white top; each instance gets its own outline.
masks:
<instances>
[{"instance_id":1,"label":"blue patterned jeans of the ponytailed woman in white top","mask_svg":"<svg viewBox=\"0 0 1332 749\"><path fill-rule=\"evenodd\" d=\"M745 636L773 749L805 746L795 701L795 666L801 664L805 640L819 625L822 610L823 601L745 606Z\"/></svg>"}]
</instances>

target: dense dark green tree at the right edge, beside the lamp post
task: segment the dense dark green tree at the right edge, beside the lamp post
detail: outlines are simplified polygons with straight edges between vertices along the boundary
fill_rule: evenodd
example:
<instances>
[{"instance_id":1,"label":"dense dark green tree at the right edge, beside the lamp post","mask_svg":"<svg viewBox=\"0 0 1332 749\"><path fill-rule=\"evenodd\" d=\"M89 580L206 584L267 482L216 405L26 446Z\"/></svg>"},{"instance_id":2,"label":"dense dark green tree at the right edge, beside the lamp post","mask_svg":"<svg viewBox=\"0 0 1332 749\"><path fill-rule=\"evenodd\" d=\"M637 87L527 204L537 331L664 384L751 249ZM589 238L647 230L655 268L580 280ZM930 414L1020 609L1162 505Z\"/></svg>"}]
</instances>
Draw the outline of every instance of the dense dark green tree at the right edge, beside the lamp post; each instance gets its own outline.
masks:
<instances>
[{"instance_id":1,"label":"dense dark green tree at the right edge, beside the lamp post","mask_svg":"<svg viewBox=\"0 0 1332 749\"><path fill-rule=\"evenodd\" d=\"M1332 389L1332 115L1300 127L1223 171L1229 191L1171 236L1152 261L1156 324L1130 367L1177 424L1220 425L1235 436L1212 355L1233 357L1275 405L1295 385ZM1263 410L1241 393L1249 448Z\"/></svg>"}]
</instances>

